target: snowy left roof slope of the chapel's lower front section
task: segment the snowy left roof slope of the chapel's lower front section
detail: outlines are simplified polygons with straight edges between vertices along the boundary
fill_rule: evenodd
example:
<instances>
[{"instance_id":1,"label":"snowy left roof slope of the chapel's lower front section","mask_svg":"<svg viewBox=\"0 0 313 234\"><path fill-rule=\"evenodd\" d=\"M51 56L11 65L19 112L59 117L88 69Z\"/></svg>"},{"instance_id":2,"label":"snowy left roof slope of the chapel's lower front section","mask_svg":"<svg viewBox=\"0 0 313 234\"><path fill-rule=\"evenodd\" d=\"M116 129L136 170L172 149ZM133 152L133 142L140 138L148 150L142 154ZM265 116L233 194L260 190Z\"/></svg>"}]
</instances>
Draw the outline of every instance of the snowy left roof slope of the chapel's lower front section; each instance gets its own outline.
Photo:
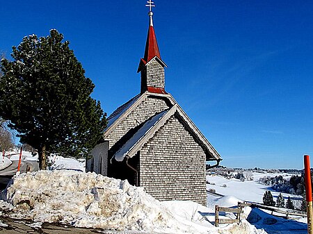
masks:
<instances>
[{"instance_id":1,"label":"snowy left roof slope of the chapel's lower front section","mask_svg":"<svg viewBox=\"0 0 313 234\"><path fill-rule=\"evenodd\" d=\"M134 145L136 145L137 142L139 142L145 134L159 122L159 119L161 119L168 110L163 110L157 115L154 115L151 119L147 120L145 124L120 148L113 156L115 160L122 161L124 160L125 156L127 156L127 153L131 150Z\"/></svg>"}]
</instances>

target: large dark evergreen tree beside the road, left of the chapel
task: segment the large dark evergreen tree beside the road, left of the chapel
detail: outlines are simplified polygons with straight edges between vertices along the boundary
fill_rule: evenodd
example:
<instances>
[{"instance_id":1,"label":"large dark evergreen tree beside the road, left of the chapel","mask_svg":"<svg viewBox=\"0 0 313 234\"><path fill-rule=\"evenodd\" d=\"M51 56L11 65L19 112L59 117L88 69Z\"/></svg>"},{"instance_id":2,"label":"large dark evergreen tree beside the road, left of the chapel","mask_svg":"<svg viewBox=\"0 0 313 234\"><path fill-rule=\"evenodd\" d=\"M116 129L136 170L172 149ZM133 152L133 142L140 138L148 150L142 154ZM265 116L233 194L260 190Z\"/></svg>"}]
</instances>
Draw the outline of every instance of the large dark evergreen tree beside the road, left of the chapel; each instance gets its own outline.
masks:
<instances>
[{"instance_id":1,"label":"large dark evergreen tree beside the road, left of the chapel","mask_svg":"<svg viewBox=\"0 0 313 234\"><path fill-rule=\"evenodd\" d=\"M13 60L1 60L0 116L10 120L22 143L46 152L86 156L101 138L106 114L90 97L95 85L55 29L47 37L24 37Z\"/></svg>"}]
</instances>

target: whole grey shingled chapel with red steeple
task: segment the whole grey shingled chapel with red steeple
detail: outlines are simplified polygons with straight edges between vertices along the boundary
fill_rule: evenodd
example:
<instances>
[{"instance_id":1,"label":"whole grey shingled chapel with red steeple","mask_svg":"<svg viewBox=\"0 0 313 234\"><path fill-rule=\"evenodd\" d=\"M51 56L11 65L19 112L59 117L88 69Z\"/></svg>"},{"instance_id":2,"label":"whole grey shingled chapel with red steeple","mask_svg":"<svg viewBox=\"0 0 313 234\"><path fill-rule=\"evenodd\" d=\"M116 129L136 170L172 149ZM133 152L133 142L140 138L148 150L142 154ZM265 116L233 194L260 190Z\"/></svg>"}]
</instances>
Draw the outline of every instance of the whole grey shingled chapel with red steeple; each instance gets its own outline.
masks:
<instances>
[{"instance_id":1,"label":"whole grey shingled chapel with red steeple","mask_svg":"<svg viewBox=\"0 0 313 234\"><path fill-rule=\"evenodd\" d=\"M220 155L165 90L164 67L152 12L138 72L141 93L108 117L104 141L91 152L87 171L127 179L163 200L206 204L206 161Z\"/></svg>"}]
</instances>

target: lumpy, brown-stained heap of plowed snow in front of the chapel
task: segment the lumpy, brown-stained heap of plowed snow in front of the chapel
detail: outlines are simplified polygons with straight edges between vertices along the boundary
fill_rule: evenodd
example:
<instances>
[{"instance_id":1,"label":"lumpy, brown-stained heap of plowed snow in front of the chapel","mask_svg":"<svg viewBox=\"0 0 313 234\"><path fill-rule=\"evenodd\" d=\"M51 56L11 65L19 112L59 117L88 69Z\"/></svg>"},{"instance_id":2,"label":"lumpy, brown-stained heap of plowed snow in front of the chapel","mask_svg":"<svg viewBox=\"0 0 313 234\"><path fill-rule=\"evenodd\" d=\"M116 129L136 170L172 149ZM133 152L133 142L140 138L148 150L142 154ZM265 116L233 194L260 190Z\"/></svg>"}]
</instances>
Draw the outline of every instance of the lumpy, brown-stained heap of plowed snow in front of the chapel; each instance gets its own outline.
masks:
<instances>
[{"instance_id":1,"label":"lumpy, brown-stained heap of plowed snow in front of the chapel","mask_svg":"<svg viewBox=\"0 0 313 234\"><path fill-rule=\"evenodd\" d=\"M118 231L179 230L166 208L143 189L95 173L21 174L14 178L4 199L13 205L10 217L35 222Z\"/></svg>"}]
</instances>

